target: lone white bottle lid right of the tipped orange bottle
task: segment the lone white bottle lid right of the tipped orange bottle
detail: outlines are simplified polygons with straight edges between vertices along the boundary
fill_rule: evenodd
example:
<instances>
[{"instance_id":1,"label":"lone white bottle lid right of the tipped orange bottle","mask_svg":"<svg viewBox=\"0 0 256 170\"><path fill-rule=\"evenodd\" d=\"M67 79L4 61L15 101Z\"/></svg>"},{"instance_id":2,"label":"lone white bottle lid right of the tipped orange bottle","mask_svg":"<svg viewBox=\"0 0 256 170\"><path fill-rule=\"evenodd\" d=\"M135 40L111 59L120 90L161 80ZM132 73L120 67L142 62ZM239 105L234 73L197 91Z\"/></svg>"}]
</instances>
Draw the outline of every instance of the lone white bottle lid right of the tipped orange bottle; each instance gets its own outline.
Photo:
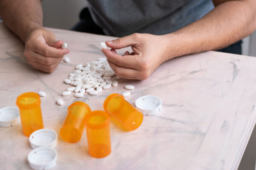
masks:
<instances>
[{"instance_id":1,"label":"lone white bottle lid right of the tipped orange bottle","mask_svg":"<svg viewBox=\"0 0 256 170\"><path fill-rule=\"evenodd\" d=\"M143 115L152 116L161 111L162 101L157 96L141 96L135 102L138 111Z\"/></svg>"}]
</instances>

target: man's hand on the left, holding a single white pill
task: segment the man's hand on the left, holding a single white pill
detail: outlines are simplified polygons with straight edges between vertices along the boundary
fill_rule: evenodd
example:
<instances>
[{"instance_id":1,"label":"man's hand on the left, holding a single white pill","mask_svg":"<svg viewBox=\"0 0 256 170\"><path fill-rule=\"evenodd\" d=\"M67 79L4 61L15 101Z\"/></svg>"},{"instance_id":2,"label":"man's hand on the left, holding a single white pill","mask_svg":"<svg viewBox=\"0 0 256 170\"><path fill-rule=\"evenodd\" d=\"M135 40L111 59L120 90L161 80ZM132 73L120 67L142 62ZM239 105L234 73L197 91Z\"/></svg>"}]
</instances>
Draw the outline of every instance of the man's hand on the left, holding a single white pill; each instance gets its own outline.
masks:
<instances>
[{"instance_id":1,"label":"man's hand on the left, holding a single white pill","mask_svg":"<svg viewBox=\"0 0 256 170\"><path fill-rule=\"evenodd\" d=\"M26 39L24 56L33 68L52 73L63 56L69 53L68 49L61 48L63 43L62 40L56 40L52 31L36 28Z\"/></svg>"}]
</instances>

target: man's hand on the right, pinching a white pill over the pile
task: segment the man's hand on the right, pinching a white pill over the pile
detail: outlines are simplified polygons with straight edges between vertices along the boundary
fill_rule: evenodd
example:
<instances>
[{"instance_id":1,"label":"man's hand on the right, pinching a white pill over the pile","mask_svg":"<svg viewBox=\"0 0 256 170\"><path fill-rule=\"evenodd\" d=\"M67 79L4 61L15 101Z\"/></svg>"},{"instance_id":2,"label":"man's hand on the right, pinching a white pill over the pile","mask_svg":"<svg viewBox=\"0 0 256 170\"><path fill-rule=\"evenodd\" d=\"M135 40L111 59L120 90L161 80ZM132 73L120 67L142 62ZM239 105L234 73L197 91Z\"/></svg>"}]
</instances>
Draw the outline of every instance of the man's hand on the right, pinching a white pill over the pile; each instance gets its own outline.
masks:
<instances>
[{"instance_id":1,"label":"man's hand on the right, pinching a white pill over the pile","mask_svg":"<svg viewBox=\"0 0 256 170\"><path fill-rule=\"evenodd\" d=\"M106 41L111 50L102 49L116 75L125 79L147 79L164 61L170 59L166 36L131 34L127 37ZM133 52L116 54L115 49L131 46Z\"/></svg>"}]
</instances>

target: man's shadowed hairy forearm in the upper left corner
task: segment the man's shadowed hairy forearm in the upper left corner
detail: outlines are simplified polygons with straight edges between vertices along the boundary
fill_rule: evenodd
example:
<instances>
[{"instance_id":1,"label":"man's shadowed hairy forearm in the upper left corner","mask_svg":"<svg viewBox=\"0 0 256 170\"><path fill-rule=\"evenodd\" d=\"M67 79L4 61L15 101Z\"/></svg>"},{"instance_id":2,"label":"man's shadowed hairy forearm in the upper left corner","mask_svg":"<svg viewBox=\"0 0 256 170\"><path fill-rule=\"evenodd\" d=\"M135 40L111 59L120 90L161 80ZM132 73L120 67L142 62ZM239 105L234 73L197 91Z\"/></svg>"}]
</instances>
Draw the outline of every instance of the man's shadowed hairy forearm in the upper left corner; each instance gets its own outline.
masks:
<instances>
[{"instance_id":1,"label":"man's shadowed hairy forearm in the upper left corner","mask_svg":"<svg viewBox=\"0 0 256 170\"><path fill-rule=\"evenodd\" d=\"M43 26L40 0L0 0L0 15L23 42L32 30Z\"/></svg>"}]
</instances>

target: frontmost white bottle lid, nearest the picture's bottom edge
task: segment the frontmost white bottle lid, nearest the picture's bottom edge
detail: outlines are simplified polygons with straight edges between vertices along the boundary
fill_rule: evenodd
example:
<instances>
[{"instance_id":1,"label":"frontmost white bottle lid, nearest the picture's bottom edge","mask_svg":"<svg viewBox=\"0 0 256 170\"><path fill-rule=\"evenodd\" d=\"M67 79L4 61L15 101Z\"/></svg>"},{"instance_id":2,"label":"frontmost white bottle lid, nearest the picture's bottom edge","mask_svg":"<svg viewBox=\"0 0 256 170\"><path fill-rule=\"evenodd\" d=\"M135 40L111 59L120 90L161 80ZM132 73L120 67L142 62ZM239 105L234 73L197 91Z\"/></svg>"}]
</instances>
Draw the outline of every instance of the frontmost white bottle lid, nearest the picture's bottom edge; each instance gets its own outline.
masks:
<instances>
[{"instance_id":1,"label":"frontmost white bottle lid, nearest the picture's bottom edge","mask_svg":"<svg viewBox=\"0 0 256 170\"><path fill-rule=\"evenodd\" d=\"M37 147L28 155L30 167L34 170L49 170L55 167L58 154L52 147Z\"/></svg>"}]
</instances>

